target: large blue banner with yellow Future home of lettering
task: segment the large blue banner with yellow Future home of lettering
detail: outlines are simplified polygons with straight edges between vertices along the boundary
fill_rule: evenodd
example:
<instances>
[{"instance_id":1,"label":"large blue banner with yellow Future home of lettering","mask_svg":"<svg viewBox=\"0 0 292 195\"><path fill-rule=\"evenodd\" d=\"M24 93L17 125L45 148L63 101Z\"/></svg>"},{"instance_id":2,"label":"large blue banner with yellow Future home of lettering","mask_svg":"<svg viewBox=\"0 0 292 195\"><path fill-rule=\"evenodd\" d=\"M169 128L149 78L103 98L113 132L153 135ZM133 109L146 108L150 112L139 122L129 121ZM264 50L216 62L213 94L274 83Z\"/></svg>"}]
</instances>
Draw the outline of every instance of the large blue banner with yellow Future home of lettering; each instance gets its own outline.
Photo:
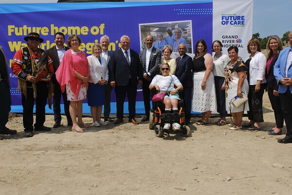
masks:
<instances>
[{"instance_id":1,"label":"large blue banner with yellow Future home of lettering","mask_svg":"<svg viewBox=\"0 0 292 195\"><path fill-rule=\"evenodd\" d=\"M26 46L23 38L30 32L37 32L44 39L40 43L44 50L55 45L56 32L63 32L66 39L71 34L77 34L82 40L80 50L87 55L91 55L92 44L99 42L103 35L110 37L110 51L119 49L120 37L128 35L130 48L140 53L147 34L162 32L165 38L167 27L172 30L179 27L183 30L188 53L195 51L198 39L206 40L211 53L212 5L212 1L1 4L0 45L10 60L9 64L15 52ZM22 113L21 94L17 92L18 79L11 67L9 77L11 112ZM115 113L113 91L111 102L111 113ZM84 113L90 113L86 101L83 110ZM46 109L46 112L53 113L53 110ZM128 113L127 105L125 113ZM142 90L139 89L136 113L145 113Z\"/></svg>"}]
</instances>

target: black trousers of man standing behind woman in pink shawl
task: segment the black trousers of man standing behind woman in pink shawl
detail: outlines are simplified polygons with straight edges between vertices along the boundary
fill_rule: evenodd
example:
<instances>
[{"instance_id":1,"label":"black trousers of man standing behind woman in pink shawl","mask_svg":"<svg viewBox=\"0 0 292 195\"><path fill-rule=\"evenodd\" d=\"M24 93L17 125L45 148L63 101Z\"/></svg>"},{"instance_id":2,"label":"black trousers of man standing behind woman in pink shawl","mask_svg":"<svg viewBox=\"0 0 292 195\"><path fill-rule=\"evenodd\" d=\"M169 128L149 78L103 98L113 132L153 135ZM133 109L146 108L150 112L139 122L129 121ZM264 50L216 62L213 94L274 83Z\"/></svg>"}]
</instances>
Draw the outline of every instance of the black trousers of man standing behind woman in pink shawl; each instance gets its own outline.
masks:
<instances>
[{"instance_id":1,"label":"black trousers of man standing behind woman in pink shawl","mask_svg":"<svg viewBox=\"0 0 292 195\"><path fill-rule=\"evenodd\" d=\"M72 124L72 119L69 113L69 105L70 105L70 101L67 100L67 93L66 93L66 89L65 92L62 93L61 92L61 87L60 84L58 82L54 82L54 96L53 96L53 110L54 110L54 120L57 123L61 122L61 97L63 96L63 102L64 102L64 111L65 111L65 115L67 117L67 123L71 123Z\"/></svg>"}]
</instances>

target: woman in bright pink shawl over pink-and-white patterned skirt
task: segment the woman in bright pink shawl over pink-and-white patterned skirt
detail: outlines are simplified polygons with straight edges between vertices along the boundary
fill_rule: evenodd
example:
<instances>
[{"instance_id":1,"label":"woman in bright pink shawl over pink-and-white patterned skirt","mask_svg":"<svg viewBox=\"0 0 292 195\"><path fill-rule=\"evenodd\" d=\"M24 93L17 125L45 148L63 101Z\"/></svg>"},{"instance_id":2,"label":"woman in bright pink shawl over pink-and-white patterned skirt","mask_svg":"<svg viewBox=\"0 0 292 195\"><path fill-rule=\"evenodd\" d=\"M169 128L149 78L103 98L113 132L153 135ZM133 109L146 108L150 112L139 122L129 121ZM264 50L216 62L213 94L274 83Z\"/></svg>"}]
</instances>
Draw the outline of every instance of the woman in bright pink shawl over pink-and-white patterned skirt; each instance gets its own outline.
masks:
<instances>
[{"instance_id":1,"label":"woman in bright pink shawl over pink-and-white patterned skirt","mask_svg":"<svg viewBox=\"0 0 292 195\"><path fill-rule=\"evenodd\" d=\"M81 44L79 36L70 35L67 43L71 49L65 52L55 74L62 92L66 87L67 99L70 101L69 112L73 122L72 131L82 133L84 130L81 127L89 128L89 125L82 121L82 102L87 94L90 68L85 53L78 49Z\"/></svg>"}]
</instances>

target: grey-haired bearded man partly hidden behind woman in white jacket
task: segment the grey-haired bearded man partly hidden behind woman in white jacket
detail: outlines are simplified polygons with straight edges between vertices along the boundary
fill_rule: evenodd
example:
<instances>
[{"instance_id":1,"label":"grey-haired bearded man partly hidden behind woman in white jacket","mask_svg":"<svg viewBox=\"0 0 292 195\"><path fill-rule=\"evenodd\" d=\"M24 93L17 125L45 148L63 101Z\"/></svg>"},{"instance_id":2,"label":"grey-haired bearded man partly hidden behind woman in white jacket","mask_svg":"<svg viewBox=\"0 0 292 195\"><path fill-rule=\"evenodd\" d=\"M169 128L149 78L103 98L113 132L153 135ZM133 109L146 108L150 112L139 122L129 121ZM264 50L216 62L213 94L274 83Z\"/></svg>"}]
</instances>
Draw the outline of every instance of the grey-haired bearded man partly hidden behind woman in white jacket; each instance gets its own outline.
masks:
<instances>
[{"instance_id":1,"label":"grey-haired bearded man partly hidden behind woman in white jacket","mask_svg":"<svg viewBox=\"0 0 292 195\"><path fill-rule=\"evenodd\" d=\"M110 38L107 35L104 35L100 38L100 45L102 49L102 57L107 60L107 65L110 61L110 54L109 45L110 45ZM105 121L112 122L110 118L110 94L111 94L112 87L110 86L110 82L106 85L106 92L105 92L105 105L104 105L104 117Z\"/></svg>"}]
</instances>

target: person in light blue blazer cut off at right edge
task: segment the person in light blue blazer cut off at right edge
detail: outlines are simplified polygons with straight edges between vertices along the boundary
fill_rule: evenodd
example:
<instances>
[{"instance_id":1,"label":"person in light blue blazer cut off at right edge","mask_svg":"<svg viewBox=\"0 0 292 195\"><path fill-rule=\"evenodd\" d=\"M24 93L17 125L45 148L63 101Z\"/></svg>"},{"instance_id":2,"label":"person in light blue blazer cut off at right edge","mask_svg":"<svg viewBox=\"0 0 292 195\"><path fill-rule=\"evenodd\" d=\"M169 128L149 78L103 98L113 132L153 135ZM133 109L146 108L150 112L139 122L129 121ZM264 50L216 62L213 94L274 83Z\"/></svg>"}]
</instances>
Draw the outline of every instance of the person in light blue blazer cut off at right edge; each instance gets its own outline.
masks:
<instances>
[{"instance_id":1,"label":"person in light blue blazer cut off at right edge","mask_svg":"<svg viewBox=\"0 0 292 195\"><path fill-rule=\"evenodd\" d=\"M274 65L274 76L278 83L278 94L284 113L287 134L279 143L292 143L292 32L288 37L290 47L280 51Z\"/></svg>"}]
</instances>

